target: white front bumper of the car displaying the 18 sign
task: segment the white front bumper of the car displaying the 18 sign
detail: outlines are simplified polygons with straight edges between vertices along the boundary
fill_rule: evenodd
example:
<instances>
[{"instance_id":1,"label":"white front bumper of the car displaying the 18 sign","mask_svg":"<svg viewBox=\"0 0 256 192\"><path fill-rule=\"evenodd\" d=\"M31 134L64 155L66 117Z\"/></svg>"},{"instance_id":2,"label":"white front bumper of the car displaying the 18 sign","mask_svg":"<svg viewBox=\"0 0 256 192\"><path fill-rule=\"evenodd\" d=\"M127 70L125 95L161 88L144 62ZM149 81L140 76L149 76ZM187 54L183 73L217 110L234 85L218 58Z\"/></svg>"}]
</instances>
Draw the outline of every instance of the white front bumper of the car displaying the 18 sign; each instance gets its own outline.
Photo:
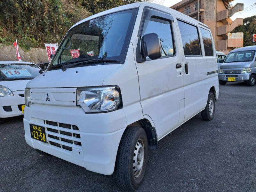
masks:
<instances>
[{"instance_id":1,"label":"white front bumper of the car displaying the 18 sign","mask_svg":"<svg viewBox=\"0 0 256 192\"><path fill-rule=\"evenodd\" d=\"M23 115L21 106L25 105L24 90L12 93L13 96L0 97L0 118Z\"/></svg>"}]
</instances>

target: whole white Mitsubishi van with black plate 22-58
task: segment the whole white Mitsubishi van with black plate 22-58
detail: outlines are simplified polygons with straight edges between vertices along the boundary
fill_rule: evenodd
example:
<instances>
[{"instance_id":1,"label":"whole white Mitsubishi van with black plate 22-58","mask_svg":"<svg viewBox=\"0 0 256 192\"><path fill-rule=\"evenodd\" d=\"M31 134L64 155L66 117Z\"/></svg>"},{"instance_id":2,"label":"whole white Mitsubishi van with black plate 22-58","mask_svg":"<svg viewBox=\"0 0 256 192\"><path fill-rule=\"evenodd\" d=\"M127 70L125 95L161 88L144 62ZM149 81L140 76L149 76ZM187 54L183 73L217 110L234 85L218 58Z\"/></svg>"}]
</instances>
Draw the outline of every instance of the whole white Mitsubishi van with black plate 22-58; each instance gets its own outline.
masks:
<instances>
[{"instance_id":1,"label":"whole white Mitsubishi van with black plate 22-58","mask_svg":"<svg viewBox=\"0 0 256 192\"><path fill-rule=\"evenodd\" d=\"M152 3L110 9L71 27L48 68L27 84L28 145L141 185L148 148L219 95L210 28ZM41 72L42 72L41 70Z\"/></svg>"}]
</instances>

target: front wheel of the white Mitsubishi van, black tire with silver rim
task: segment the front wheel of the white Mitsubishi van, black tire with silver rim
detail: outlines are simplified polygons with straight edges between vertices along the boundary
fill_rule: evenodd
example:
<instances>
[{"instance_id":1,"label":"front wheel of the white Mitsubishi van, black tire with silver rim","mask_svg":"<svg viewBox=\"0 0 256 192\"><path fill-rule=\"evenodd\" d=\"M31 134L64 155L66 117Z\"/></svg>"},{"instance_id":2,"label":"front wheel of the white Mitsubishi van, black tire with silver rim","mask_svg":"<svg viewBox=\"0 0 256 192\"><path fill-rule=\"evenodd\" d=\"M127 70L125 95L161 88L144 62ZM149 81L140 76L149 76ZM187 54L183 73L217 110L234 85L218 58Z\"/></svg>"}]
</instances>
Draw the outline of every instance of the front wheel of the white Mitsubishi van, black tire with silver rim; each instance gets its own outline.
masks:
<instances>
[{"instance_id":1,"label":"front wheel of the white Mitsubishi van, black tire with silver rim","mask_svg":"<svg viewBox=\"0 0 256 192\"><path fill-rule=\"evenodd\" d=\"M141 127L125 130L116 157L116 180L124 190L140 187L148 160L148 139Z\"/></svg>"}]
</instances>

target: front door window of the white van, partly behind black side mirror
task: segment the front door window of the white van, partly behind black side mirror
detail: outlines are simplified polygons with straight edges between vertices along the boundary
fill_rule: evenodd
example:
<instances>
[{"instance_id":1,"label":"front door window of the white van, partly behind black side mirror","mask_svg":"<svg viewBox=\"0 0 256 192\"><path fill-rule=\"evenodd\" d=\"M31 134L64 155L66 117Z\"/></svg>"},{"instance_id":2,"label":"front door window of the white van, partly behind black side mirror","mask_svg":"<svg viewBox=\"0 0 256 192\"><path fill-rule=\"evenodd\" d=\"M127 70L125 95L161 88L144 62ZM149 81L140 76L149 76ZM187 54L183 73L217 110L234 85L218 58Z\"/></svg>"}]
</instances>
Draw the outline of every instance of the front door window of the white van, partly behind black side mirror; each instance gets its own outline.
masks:
<instances>
[{"instance_id":1,"label":"front door window of the white van, partly behind black side mirror","mask_svg":"<svg viewBox=\"0 0 256 192\"><path fill-rule=\"evenodd\" d=\"M143 31L145 31L144 34L156 33L159 36L162 57L175 54L170 21L151 17L148 22L145 22Z\"/></svg>"}]
</instances>

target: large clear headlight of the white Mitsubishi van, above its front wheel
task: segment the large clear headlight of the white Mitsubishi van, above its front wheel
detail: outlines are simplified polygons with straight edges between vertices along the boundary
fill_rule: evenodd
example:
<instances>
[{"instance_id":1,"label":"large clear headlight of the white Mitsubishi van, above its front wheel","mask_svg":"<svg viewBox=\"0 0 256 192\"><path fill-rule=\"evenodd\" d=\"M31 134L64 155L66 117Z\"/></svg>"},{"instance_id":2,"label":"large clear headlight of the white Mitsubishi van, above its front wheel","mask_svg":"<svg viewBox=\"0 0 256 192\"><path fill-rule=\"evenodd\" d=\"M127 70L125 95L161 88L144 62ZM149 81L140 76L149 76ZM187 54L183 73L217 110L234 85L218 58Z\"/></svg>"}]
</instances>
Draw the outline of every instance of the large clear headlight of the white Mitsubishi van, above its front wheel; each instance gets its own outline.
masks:
<instances>
[{"instance_id":1,"label":"large clear headlight of the white Mitsubishi van, above its front wheel","mask_svg":"<svg viewBox=\"0 0 256 192\"><path fill-rule=\"evenodd\" d=\"M77 88L76 102L85 113L108 112L122 107L121 92L116 86Z\"/></svg>"}]
</instances>

